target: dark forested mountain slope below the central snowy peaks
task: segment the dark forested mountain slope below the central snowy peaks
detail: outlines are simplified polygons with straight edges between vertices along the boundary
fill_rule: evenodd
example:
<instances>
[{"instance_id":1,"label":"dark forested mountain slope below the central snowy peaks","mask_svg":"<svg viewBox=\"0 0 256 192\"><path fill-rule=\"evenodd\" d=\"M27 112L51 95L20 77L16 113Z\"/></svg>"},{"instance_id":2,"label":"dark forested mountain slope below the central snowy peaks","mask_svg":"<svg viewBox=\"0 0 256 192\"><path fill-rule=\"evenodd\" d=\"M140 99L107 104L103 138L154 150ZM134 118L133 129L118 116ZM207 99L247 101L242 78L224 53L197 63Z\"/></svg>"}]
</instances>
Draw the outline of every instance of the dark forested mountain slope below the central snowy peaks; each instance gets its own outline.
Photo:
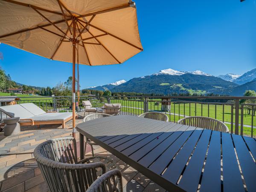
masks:
<instances>
[{"instance_id":1,"label":"dark forested mountain slope below the central snowy peaks","mask_svg":"<svg viewBox=\"0 0 256 192\"><path fill-rule=\"evenodd\" d=\"M161 72L161 71L160 71ZM151 76L133 78L111 89L112 92L138 92L169 95L173 93L215 93L237 85L210 75L155 73Z\"/></svg>"}]
</instances>

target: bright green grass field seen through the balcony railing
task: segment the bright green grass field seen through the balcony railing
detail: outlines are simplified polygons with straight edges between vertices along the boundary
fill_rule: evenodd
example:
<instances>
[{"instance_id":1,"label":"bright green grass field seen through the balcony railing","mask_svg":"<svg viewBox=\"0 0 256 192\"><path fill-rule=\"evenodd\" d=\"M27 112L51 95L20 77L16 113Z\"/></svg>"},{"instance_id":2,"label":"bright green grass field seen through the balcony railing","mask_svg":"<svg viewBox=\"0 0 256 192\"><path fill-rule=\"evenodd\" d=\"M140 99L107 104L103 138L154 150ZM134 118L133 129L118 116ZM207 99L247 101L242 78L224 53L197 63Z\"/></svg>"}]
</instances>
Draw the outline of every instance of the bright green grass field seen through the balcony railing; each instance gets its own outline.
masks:
<instances>
[{"instance_id":1,"label":"bright green grass field seen through the balcony railing","mask_svg":"<svg viewBox=\"0 0 256 192\"><path fill-rule=\"evenodd\" d=\"M10 96L10 93L0 93L0 96ZM21 100L18 103L26 103L33 102L42 108L44 111L52 111L52 98L50 97L42 97L42 96L30 96L30 95L17 95ZM26 98L27 97L27 98ZM161 99L148 100L148 110L149 111L161 111L162 103ZM70 102L70 101L69 101ZM67 101L59 101L57 102L57 107L59 110L66 110L68 108ZM102 107L104 103L107 102L106 99L104 101L99 102L99 100L91 101L93 106ZM125 113L133 114L141 114L144 113L144 101L139 99L111 99L111 103L121 103L123 106L121 111ZM65 106L61 108L61 106ZM81 103L80 103L81 105ZM182 119L185 116L209 116L214 119L218 119L224 122L231 122L231 106L230 105L208 105L208 104L199 104L199 103L176 103L173 102L170 105L171 111L166 111L166 115L171 119L172 122L177 122L179 119ZM208 109L209 108L209 109ZM209 112L208 112L209 111ZM161 111L163 112L163 111ZM175 114L175 115L174 115ZM235 109L233 109L233 122L235 122ZM241 122L241 110L239 110L239 122ZM244 125L252 124L252 116L248 115L244 110ZM230 128L231 125L226 123L226 125ZM253 125L256 126L256 117L253 117ZM233 130L234 130L233 126ZM231 129L230 129L231 130ZM240 130L240 126L239 126ZM244 134L250 135L251 128L244 127ZM256 128L253 129L253 135L256 135Z\"/></svg>"}]
</instances>

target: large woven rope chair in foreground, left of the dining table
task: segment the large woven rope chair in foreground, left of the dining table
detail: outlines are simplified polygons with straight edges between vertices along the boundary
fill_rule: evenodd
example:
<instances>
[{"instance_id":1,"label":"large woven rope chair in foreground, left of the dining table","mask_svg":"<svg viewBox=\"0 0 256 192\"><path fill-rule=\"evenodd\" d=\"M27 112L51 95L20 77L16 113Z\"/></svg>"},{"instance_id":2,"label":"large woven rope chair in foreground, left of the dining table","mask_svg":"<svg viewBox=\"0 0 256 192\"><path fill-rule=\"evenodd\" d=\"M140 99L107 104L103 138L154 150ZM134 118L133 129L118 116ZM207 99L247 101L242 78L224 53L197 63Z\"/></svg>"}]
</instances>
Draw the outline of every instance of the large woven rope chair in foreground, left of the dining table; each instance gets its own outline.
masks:
<instances>
[{"instance_id":1,"label":"large woven rope chair in foreground, left of the dining table","mask_svg":"<svg viewBox=\"0 0 256 192\"><path fill-rule=\"evenodd\" d=\"M47 140L35 148L34 156L50 192L85 191L98 174L106 172L105 163L92 162L107 157L88 157L78 161L73 137Z\"/></svg>"}]
</instances>

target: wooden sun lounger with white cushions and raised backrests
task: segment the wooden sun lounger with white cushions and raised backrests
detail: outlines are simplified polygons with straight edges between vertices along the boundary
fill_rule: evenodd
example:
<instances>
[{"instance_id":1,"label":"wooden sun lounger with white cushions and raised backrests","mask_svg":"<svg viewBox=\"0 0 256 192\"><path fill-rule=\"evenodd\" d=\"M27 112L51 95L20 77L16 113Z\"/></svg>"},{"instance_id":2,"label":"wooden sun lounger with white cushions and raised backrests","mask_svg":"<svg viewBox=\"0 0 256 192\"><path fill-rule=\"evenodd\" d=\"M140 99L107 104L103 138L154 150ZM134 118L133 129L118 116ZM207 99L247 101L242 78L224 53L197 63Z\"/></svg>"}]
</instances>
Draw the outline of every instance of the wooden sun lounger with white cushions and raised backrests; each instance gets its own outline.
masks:
<instances>
[{"instance_id":1,"label":"wooden sun lounger with white cushions and raised backrests","mask_svg":"<svg viewBox=\"0 0 256 192\"><path fill-rule=\"evenodd\" d=\"M33 103L2 106L0 111L10 117L20 117L20 125L62 124L64 128L65 123L72 119L71 112L45 112Z\"/></svg>"}]
</instances>

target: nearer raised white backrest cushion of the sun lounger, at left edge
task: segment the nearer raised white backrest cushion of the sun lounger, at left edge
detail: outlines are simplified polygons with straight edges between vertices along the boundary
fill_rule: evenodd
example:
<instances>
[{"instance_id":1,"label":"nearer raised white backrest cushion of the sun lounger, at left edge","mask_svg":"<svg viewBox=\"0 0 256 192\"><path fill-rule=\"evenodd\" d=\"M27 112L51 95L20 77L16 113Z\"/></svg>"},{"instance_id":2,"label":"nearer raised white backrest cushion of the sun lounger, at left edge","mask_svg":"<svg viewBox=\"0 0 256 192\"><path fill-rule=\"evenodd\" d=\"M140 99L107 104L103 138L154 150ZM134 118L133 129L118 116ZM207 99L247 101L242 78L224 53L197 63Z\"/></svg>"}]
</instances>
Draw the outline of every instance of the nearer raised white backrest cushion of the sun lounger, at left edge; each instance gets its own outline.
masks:
<instances>
[{"instance_id":1,"label":"nearer raised white backrest cushion of the sun lounger, at left edge","mask_svg":"<svg viewBox=\"0 0 256 192\"><path fill-rule=\"evenodd\" d=\"M30 119L35 116L20 105L6 105L0 107L0 110L10 117L20 117L20 119Z\"/></svg>"}]
</instances>

